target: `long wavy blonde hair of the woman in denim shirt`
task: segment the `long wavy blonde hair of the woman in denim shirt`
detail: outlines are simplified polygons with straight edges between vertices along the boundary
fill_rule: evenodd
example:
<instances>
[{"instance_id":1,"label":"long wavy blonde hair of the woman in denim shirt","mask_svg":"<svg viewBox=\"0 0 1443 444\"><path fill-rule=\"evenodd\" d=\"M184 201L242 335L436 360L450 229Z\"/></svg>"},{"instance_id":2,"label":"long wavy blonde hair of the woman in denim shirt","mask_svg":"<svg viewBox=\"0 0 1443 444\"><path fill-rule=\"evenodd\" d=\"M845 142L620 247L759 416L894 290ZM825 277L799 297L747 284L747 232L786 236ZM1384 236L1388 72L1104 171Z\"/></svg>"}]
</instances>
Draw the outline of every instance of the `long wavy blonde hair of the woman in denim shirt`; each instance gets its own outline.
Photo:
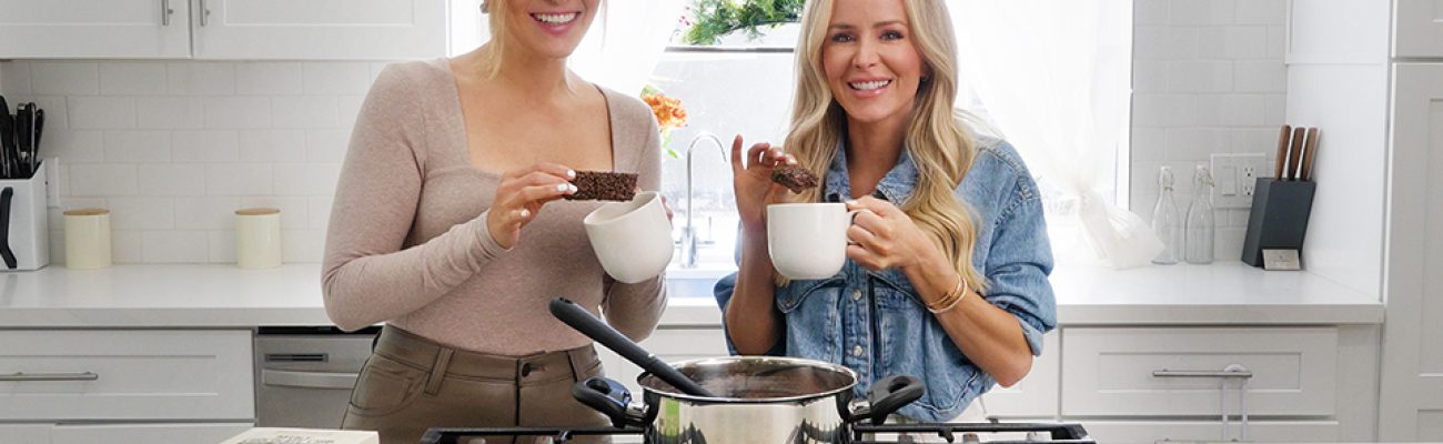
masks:
<instances>
[{"instance_id":1,"label":"long wavy blonde hair of the woman in denim shirt","mask_svg":"<svg viewBox=\"0 0 1443 444\"><path fill-rule=\"evenodd\" d=\"M977 226L971 209L952 193L973 166L977 143L962 114L952 108L958 88L957 40L944 3L902 1L911 22L912 43L931 75L918 86L912 123L906 130L905 150L916 163L918 185L906 202L893 203L941 247L967 285L981 293L987 281L973 264ZM821 61L834 6L834 0L811 0L802 12L802 32L797 43L797 97L784 144L818 177L835 159L847 127L846 111L833 98ZM821 190L812 187L798 200L820 202Z\"/></svg>"}]
</instances>

